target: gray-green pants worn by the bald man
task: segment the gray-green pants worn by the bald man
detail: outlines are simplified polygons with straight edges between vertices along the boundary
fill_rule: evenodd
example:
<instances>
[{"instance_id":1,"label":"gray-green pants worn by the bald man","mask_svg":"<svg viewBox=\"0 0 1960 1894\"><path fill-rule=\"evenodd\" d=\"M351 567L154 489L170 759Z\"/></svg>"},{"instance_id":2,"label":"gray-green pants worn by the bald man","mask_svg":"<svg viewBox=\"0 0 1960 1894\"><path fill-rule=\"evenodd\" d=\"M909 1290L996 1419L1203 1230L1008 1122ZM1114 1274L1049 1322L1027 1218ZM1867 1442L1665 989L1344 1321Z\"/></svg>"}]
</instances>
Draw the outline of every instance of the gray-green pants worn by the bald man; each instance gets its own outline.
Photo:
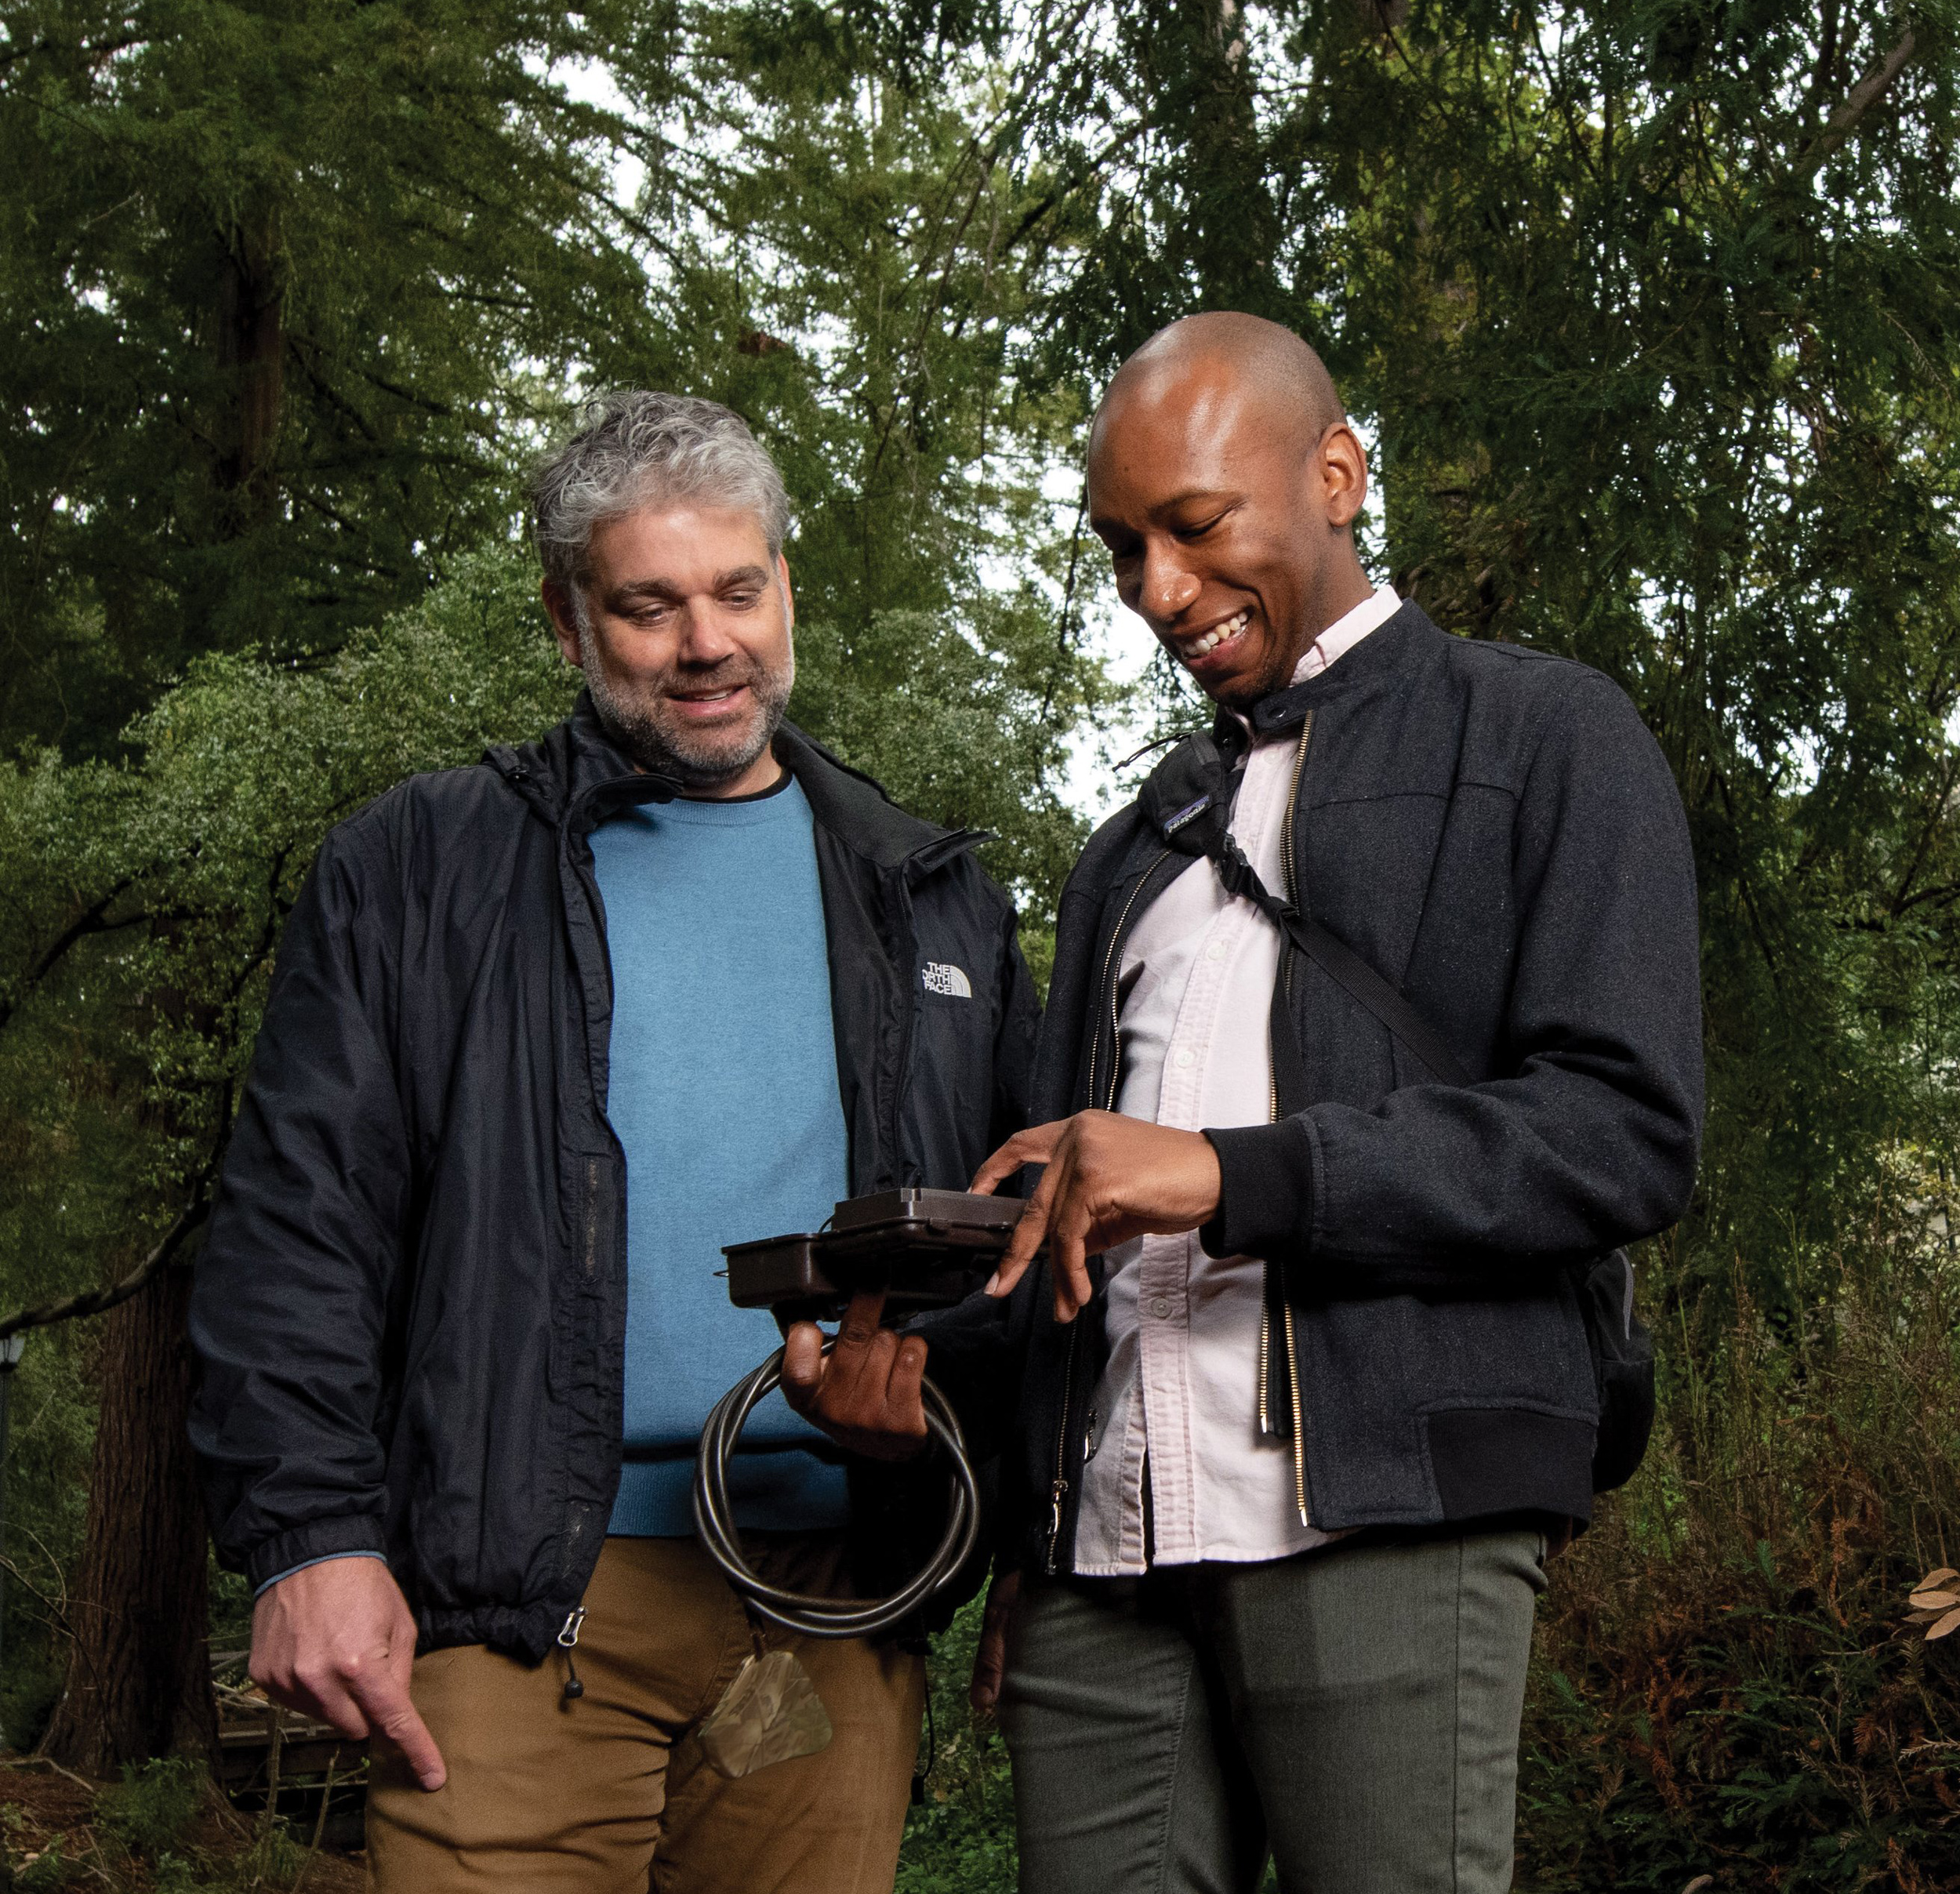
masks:
<instances>
[{"instance_id":1,"label":"gray-green pants worn by the bald man","mask_svg":"<svg viewBox=\"0 0 1960 1894\"><path fill-rule=\"evenodd\" d=\"M1535 1531L1029 1588L1023 1894L1501 1894Z\"/></svg>"}]
</instances>

